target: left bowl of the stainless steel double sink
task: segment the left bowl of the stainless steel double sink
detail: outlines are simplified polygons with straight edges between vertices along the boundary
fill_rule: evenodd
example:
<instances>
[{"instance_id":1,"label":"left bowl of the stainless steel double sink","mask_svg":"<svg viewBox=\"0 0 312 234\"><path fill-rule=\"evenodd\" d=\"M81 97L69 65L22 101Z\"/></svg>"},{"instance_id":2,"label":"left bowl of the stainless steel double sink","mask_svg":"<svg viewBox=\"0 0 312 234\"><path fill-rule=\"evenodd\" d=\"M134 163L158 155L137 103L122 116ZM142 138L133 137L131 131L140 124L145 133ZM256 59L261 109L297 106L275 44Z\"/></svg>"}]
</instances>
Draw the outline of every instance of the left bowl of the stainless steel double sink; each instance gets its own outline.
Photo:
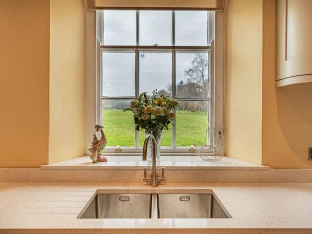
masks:
<instances>
[{"instance_id":1,"label":"left bowl of the stainless steel double sink","mask_svg":"<svg viewBox=\"0 0 312 234\"><path fill-rule=\"evenodd\" d=\"M80 218L151 218L151 202L151 194L98 194Z\"/></svg>"}]
</instances>

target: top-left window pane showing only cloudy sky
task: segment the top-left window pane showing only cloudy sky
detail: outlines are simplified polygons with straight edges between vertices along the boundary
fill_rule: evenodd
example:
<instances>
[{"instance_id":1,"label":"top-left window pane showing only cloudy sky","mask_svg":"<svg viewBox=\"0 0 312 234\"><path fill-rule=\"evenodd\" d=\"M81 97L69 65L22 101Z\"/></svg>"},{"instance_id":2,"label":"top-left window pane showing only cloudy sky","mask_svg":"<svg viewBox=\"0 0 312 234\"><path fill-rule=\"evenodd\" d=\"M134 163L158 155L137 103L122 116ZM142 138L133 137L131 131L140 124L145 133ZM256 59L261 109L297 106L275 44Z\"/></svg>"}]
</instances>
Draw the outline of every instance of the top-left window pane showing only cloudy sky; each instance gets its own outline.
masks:
<instances>
[{"instance_id":1,"label":"top-left window pane showing only cloudy sky","mask_svg":"<svg viewBox=\"0 0 312 234\"><path fill-rule=\"evenodd\" d=\"M104 11L104 44L136 45L136 11Z\"/></svg>"}]
</instances>

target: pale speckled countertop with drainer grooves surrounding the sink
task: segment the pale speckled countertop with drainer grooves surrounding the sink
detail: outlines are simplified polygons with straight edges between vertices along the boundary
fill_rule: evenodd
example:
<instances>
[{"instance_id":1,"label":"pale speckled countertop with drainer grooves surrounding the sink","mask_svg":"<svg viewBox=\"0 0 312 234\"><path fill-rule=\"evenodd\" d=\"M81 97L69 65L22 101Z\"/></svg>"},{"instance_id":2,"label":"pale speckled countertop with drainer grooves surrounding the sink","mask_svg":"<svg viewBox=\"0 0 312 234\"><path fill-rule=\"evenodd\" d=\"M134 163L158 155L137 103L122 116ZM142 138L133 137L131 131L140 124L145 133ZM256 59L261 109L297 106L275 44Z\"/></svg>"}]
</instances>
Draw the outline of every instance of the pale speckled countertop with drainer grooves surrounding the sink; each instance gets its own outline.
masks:
<instances>
[{"instance_id":1,"label":"pale speckled countertop with drainer grooves surrounding the sink","mask_svg":"<svg viewBox=\"0 0 312 234\"><path fill-rule=\"evenodd\" d=\"M77 219L97 190L110 193L212 190L233 218L123 219L122 222L120 219ZM153 188L142 183L0 183L0 233L5 229L95 229L97 233L114 229L206 230L202 233L212 229L295 229L312 233L312 184L172 183Z\"/></svg>"}]
</instances>

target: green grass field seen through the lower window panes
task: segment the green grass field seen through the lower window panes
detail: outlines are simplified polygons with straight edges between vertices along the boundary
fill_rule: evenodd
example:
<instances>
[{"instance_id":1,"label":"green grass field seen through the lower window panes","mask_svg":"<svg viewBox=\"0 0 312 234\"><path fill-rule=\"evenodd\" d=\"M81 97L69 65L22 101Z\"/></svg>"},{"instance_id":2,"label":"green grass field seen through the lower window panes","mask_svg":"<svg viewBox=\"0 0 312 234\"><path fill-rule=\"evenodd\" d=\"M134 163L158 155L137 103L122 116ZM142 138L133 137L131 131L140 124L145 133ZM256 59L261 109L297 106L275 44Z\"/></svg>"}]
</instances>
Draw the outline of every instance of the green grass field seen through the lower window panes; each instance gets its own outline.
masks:
<instances>
[{"instance_id":1,"label":"green grass field seen through the lower window panes","mask_svg":"<svg viewBox=\"0 0 312 234\"><path fill-rule=\"evenodd\" d=\"M197 140L205 140L208 127L206 112L176 111L176 146L190 146ZM133 114L117 109L104 110L103 125L107 146L135 146ZM142 146L145 133L139 131L139 145ZM172 128L164 131L162 146L172 146Z\"/></svg>"}]
</instances>

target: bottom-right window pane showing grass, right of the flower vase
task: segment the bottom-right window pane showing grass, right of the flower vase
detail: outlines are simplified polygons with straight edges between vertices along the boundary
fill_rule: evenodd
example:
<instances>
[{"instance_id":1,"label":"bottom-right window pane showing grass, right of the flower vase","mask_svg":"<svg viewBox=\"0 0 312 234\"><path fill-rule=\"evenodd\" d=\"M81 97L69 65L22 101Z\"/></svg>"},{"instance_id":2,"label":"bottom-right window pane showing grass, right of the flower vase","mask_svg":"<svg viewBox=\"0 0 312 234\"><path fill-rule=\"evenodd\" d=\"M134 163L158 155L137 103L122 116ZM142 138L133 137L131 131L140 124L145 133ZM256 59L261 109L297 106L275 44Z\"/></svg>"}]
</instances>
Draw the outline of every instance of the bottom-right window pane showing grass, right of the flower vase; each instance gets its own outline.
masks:
<instances>
[{"instance_id":1,"label":"bottom-right window pane showing grass, right of the flower vase","mask_svg":"<svg viewBox=\"0 0 312 234\"><path fill-rule=\"evenodd\" d=\"M191 146L195 141L205 142L208 128L208 101L180 101L176 110L176 146Z\"/></svg>"}]
</instances>

